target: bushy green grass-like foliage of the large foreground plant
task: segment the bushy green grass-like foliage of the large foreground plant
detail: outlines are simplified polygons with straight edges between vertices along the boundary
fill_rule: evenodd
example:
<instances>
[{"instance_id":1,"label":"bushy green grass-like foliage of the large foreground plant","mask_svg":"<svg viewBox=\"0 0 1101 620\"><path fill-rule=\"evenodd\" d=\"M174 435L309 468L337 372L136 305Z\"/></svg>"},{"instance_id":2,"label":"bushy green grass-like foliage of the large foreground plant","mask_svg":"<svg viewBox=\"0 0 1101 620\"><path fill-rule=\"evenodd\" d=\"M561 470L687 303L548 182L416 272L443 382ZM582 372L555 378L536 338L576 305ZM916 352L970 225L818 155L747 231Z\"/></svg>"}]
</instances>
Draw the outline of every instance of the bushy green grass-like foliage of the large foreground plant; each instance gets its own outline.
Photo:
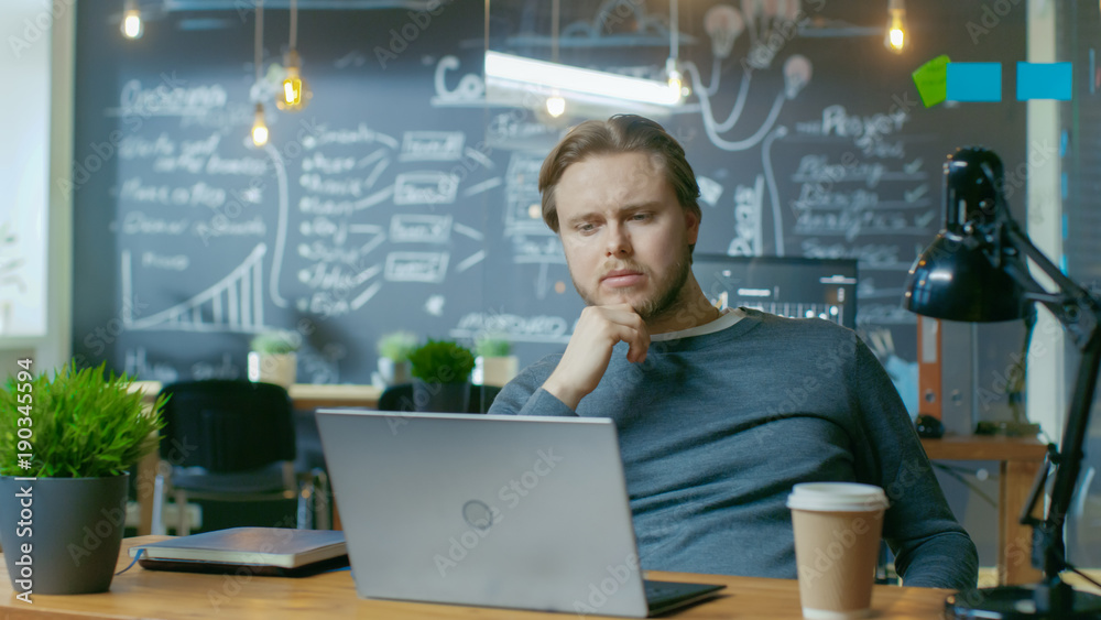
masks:
<instances>
[{"instance_id":1,"label":"bushy green grass-like foliage of the large foreground plant","mask_svg":"<svg viewBox=\"0 0 1101 620\"><path fill-rule=\"evenodd\" d=\"M133 380L105 378L106 366L76 370L70 362L52 379L25 371L8 378L0 390L0 475L118 476L156 449L166 399L146 407L142 393L130 391Z\"/></svg>"}]
</instances>

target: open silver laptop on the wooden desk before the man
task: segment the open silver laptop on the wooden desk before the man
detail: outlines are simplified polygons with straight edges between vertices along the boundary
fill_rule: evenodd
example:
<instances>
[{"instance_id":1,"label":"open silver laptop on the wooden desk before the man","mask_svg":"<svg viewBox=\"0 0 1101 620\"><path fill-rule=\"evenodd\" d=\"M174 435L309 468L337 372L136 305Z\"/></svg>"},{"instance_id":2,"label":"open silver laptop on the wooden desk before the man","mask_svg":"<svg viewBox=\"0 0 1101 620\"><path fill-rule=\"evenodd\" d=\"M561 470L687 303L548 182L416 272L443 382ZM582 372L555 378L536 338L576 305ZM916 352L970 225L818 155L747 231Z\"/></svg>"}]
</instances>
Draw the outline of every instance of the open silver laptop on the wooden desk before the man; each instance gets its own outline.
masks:
<instances>
[{"instance_id":1,"label":"open silver laptop on the wooden desk before the man","mask_svg":"<svg viewBox=\"0 0 1101 620\"><path fill-rule=\"evenodd\" d=\"M721 586L651 584L608 418L319 410L364 598L646 617Z\"/></svg>"}]
</instances>

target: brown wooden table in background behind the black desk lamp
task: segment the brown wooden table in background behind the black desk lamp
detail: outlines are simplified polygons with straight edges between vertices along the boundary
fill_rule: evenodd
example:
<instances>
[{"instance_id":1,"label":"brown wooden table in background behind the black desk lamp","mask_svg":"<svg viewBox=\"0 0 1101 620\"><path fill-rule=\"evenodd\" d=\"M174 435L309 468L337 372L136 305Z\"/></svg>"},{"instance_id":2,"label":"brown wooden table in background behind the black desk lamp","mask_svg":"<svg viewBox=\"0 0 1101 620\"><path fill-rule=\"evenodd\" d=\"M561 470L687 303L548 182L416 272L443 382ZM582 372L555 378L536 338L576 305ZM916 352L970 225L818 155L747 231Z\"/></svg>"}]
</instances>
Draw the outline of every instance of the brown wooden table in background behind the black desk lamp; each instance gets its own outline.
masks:
<instances>
[{"instance_id":1,"label":"brown wooden table in background behind the black desk lamp","mask_svg":"<svg viewBox=\"0 0 1101 620\"><path fill-rule=\"evenodd\" d=\"M996 460L1001 464L998 486L998 583L1039 581L1032 567L1032 527L1018 522L1028 500L1047 446L1035 437L982 435L922 439L925 454L937 460Z\"/></svg>"}]
</instances>

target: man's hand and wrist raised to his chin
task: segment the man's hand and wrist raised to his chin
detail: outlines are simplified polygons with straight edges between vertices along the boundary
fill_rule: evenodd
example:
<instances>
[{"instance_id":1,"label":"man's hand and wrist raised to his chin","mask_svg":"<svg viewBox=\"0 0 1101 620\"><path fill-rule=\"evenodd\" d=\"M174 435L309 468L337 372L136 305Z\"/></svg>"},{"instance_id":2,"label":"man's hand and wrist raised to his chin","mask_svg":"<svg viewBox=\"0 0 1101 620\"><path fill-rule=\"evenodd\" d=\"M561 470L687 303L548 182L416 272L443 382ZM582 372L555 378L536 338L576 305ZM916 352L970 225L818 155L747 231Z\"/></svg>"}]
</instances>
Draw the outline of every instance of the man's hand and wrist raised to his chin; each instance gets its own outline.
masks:
<instances>
[{"instance_id":1,"label":"man's hand and wrist raised to his chin","mask_svg":"<svg viewBox=\"0 0 1101 620\"><path fill-rule=\"evenodd\" d=\"M628 361L637 363L646 359L650 331L639 313L630 304L586 307L566 352L543 389L577 411L581 399L597 389L608 370L612 347L619 341L630 346Z\"/></svg>"}]
</instances>

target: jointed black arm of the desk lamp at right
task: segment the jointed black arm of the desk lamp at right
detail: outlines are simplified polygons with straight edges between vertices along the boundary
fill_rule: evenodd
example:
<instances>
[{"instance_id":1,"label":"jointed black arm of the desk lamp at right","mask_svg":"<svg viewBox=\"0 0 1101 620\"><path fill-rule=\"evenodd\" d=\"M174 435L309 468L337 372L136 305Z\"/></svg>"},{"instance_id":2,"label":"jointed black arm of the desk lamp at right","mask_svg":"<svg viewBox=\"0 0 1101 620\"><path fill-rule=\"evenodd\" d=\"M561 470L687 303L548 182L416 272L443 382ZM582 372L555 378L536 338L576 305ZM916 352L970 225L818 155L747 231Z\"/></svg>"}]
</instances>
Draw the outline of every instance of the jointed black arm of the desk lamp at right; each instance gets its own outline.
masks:
<instances>
[{"instance_id":1,"label":"jointed black arm of the desk lamp at right","mask_svg":"<svg viewBox=\"0 0 1101 620\"><path fill-rule=\"evenodd\" d=\"M1062 442L1059 452L1050 455L1055 464L1055 481L1051 486L1051 497L1047 515L1043 521L1031 516L1039 493L1043 490L1042 480L1046 478L1045 468L1037 478L1029 501L1021 515L1022 523L1035 526L1033 536L1033 565L1044 570L1050 579L1058 579L1059 573L1067 568L1066 544L1064 540L1064 523L1075 494L1075 486L1081 471L1084 457L1082 444L1089 425L1090 407L1097 388L1098 371L1101 369L1101 339L1098 325L1101 323L1101 304L1089 291L1067 278L1021 230L1012 219L1002 222L1004 239L998 244L998 257L990 257L995 267L1004 269L1022 287L1031 293L1037 303L1044 304L1059 320L1064 329L1071 336L1082 357L1075 380L1073 393L1067 412ZM1023 254L1050 278L1058 291L1048 293L1046 289L1028 273L1027 263L1017 260L1016 254ZM999 265L998 263L1001 262Z\"/></svg>"}]
</instances>

